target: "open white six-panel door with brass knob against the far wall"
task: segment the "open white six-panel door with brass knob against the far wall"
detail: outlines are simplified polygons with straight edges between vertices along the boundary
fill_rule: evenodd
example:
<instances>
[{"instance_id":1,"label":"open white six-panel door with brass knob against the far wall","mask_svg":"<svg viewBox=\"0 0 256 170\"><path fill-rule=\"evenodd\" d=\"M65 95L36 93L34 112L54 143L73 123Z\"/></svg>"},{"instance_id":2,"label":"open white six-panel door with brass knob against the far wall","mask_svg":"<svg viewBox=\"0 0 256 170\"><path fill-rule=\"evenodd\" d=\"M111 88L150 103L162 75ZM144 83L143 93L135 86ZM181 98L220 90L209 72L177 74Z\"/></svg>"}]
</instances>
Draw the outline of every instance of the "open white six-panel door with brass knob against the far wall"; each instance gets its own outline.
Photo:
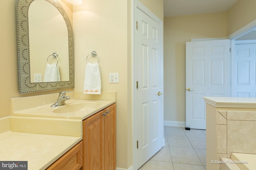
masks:
<instances>
[{"instance_id":1,"label":"open white six-panel door with brass knob against the far wall","mask_svg":"<svg viewBox=\"0 0 256 170\"><path fill-rule=\"evenodd\" d=\"M186 127L206 129L202 97L230 97L230 40L186 43Z\"/></svg>"}]
</instances>

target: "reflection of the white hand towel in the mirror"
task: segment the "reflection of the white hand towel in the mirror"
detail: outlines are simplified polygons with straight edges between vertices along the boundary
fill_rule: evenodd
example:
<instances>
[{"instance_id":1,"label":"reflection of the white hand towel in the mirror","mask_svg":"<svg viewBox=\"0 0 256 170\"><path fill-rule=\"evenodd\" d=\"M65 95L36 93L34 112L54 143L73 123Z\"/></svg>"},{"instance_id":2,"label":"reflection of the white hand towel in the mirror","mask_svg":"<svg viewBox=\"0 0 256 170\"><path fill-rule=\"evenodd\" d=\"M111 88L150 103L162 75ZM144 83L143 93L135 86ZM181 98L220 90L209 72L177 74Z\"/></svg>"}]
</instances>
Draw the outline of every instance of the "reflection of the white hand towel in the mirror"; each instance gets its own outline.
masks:
<instances>
[{"instance_id":1,"label":"reflection of the white hand towel in the mirror","mask_svg":"<svg viewBox=\"0 0 256 170\"><path fill-rule=\"evenodd\" d=\"M44 82L59 82L60 71L57 64L47 64L44 74Z\"/></svg>"}]
</instances>

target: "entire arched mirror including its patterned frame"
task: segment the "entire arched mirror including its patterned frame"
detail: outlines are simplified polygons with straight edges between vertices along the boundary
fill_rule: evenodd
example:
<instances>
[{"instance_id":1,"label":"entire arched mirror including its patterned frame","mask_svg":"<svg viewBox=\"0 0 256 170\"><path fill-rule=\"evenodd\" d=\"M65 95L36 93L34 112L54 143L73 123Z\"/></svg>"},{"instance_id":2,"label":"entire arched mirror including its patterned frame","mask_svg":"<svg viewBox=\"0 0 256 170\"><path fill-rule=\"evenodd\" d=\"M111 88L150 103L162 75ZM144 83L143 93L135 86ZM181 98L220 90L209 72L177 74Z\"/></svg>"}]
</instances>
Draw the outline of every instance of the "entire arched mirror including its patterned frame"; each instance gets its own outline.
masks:
<instances>
[{"instance_id":1,"label":"entire arched mirror including its patterned frame","mask_svg":"<svg viewBox=\"0 0 256 170\"><path fill-rule=\"evenodd\" d=\"M17 0L20 94L74 87L70 20L56 0Z\"/></svg>"}]
</instances>

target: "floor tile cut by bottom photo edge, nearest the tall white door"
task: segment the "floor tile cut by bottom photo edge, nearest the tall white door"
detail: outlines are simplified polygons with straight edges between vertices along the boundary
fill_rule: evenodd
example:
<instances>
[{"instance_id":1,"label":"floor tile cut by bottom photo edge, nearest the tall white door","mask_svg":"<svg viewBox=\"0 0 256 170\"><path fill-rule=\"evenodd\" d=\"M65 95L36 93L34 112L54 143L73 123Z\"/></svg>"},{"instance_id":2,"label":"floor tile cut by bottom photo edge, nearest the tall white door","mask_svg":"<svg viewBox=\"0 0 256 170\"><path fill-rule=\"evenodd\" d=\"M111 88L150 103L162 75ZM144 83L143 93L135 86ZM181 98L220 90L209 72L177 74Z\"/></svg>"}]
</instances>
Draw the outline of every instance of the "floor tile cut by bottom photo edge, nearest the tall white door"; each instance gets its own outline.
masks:
<instances>
[{"instance_id":1,"label":"floor tile cut by bottom photo edge, nearest the tall white door","mask_svg":"<svg viewBox=\"0 0 256 170\"><path fill-rule=\"evenodd\" d=\"M149 160L142 166L142 170L173 170L172 162Z\"/></svg>"}]
</instances>

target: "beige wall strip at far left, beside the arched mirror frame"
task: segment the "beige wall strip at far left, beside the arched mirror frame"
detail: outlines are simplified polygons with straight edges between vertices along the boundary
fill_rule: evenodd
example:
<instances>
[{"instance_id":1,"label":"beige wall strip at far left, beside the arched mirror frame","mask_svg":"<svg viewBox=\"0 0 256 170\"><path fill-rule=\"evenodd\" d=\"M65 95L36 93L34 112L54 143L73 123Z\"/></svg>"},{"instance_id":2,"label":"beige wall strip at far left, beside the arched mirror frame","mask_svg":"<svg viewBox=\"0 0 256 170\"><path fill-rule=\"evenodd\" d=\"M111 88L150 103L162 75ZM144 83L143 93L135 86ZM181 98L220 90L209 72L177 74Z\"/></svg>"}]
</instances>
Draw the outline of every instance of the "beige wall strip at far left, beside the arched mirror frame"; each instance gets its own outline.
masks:
<instances>
[{"instance_id":1,"label":"beige wall strip at far left, beside the arched mirror frame","mask_svg":"<svg viewBox=\"0 0 256 170\"><path fill-rule=\"evenodd\" d=\"M16 46L16 0L2 1L0 6L1 31L1 112L0 117L10 115L10 98L18 96L18 61ZM6 17L8 16L8 17Z\"/></svg>"}]
</instances>

